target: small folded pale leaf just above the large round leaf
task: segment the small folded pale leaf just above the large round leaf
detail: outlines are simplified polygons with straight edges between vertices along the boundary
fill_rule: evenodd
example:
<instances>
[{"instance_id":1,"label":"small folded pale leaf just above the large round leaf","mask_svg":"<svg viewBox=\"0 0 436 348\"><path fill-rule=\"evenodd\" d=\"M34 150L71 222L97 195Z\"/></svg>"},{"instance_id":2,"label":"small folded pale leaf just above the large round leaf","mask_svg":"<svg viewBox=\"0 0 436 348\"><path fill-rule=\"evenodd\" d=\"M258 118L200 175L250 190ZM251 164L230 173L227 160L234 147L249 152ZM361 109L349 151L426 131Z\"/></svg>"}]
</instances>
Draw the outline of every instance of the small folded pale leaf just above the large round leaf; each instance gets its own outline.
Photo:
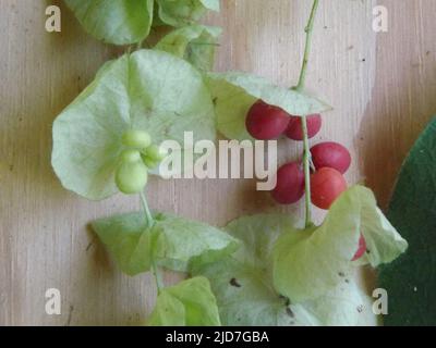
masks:
<instances>
[{"instance_id":1,"label":"small folded pale leaf just above the large round leaf","mask_svg":"<svg viewBox=\"0 0 436 348\"><path fill-rule=\"evenodd\" d=\"M175 29L165 36L155 49L183 58L202 71L214 67L218 27L191 25Z\"/></svg>"}]
</instances>

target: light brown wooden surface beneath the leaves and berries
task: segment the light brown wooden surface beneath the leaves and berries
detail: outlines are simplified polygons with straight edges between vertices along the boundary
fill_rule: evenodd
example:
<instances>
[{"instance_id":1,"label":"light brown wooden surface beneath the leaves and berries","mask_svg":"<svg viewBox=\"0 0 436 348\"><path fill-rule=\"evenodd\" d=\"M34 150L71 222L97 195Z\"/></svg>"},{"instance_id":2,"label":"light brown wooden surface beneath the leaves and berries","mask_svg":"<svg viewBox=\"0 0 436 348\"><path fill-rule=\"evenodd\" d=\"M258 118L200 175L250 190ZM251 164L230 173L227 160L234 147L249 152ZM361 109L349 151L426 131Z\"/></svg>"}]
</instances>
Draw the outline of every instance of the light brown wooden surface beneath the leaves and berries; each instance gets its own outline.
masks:
<instances>
[{"instance_id":1,"label":"light brown wooden surface beneath the leaves and berries","mask_svg":"<svg viewBox=\"0 0 436 348\"><path fill-rule=\"evenodd\" d=\"M222 3L207 20L225 27L217 69L292 85L311 1ZM377 3L388 9L386 34L372 30ZM61 34L45 32L48 4L62 9ZM316 141L350 147L349 182L365 179L383 207L405 153L436 114L435 13L434 0L322 1L307 84L335 111ZM155 300L152 279L122 275L87 227L138 201L87 202L64 190L50 167L52 121L120 50L87 36L55 0L1 0L0 32L0 325L140 323ZM300 151L284 141L281 159ZM217 225L275 209L251 181L154 179L149 200L154 209ZM61 315L45 312L52 287L62 295Z\"/></svg>"}]
</instances>

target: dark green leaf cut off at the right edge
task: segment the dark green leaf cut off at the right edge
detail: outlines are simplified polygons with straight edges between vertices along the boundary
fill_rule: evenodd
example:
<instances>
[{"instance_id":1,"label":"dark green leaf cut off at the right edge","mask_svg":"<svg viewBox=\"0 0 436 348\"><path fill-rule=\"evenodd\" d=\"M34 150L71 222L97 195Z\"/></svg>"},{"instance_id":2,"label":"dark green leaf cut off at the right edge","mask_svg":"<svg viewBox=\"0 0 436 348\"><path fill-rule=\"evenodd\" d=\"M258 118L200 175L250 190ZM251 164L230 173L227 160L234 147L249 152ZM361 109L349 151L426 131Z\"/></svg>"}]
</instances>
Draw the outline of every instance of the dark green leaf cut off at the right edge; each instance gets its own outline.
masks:
<instances>
[{"instance_id":1,"label":"dark green leaf cut off at the right edge","mask_svg":"<svg viewBox=\"0 0 436 348\"><path fill-rule=\"evenodd\" d=\"M401 170L388 217L409 251L380 270L389 296L385 324L436 325L436 119Z\"/></svg>"}]
</instances>

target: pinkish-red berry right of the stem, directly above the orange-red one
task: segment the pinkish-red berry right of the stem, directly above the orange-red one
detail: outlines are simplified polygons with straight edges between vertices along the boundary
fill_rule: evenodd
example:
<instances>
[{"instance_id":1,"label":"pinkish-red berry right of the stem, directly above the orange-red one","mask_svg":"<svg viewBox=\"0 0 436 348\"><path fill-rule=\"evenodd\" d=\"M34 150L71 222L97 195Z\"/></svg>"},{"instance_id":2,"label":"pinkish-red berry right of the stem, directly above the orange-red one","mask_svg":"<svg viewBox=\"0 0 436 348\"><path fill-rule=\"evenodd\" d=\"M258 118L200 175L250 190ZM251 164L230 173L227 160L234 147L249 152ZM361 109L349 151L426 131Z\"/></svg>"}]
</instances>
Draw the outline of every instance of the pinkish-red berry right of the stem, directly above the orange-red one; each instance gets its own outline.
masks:
<instances>
[{"instance_id":1,"label":"pinkish-red berry right of the stem, directly above the orange-red one","mask_svg":"<svg viewBox=\"0 0 436 348\"><path fill-rule=\"evenodd\" d=\"M349 150L337 142L322 142L311 149L315 169L332 167L344 174L351 164Z\"/></svg>"}]
</instances>

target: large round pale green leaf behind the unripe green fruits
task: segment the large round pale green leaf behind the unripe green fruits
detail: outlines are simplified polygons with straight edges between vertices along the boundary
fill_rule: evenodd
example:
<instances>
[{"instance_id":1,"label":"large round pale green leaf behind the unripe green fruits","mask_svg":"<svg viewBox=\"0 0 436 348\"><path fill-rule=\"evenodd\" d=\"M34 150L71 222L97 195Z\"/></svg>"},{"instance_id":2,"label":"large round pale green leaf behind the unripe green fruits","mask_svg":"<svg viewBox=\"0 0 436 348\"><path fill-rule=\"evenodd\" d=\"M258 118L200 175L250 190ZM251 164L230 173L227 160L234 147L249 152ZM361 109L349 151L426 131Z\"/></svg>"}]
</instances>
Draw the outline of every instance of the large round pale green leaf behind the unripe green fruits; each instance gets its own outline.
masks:
<instances>
[{"instance_id":1,"label":"large round pale green leaf behind the unripe green fruits","mask_svg":"<svg viewBox=\"0 0 436 348\"><path fill-rule=\"evenodd\" d=\"M215 140L214 107L199 72L154 50L101 67L55 121L52 165L62 185L92 200L116 194L122 135L131 128L148 132L155 145L172 139L183 147L187 130L194 142Z\"/></svg>"}]
</instances>

